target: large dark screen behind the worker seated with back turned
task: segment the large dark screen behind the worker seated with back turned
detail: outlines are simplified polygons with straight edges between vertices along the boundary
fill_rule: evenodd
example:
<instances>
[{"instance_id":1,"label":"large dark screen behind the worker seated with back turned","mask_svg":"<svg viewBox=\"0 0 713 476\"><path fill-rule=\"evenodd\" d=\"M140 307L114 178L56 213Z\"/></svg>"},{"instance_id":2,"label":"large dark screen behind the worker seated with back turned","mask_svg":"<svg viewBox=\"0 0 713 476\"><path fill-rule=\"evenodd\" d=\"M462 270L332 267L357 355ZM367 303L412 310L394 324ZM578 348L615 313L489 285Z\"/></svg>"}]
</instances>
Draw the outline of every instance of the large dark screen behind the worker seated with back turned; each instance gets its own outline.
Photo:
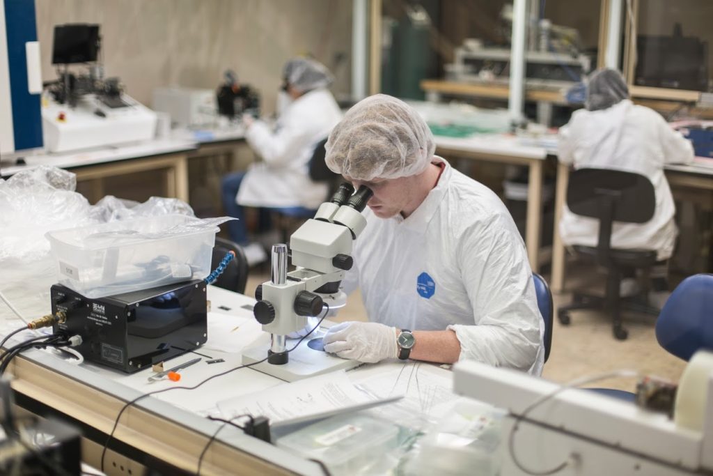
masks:
<instances>
[{"instance_id":1,"label":"large dark screen behind the worker seated with back turned","mask_svg":"<svg viewBox=\"0 0 713 476\"><path fill-rule=\"evenodd\" d=\"M694 36L637 35L637 86L708 91L708 44Z\"/></svg>"}]
</instances>

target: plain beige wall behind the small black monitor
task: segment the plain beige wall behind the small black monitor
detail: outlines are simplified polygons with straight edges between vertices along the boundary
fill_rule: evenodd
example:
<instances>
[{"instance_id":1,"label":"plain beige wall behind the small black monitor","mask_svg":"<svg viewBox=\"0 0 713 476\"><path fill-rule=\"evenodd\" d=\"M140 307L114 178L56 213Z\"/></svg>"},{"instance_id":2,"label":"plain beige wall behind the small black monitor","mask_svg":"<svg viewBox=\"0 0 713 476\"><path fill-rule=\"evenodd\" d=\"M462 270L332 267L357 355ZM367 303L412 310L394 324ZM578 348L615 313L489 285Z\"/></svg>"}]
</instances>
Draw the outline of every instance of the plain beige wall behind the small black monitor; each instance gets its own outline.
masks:
<instances>
[{"instance_id":1,"label":"plain beige wall behind the small black monitor","mask_svg":"<svg viewBox=\"0 0 713 476\"><path fill-rule=\"evenodd\" d=\"M339 0L36 0L45 81L53 26L101 25L106 76L147 105L154 88L215 88L225 69L257 87L270 113L284 61L312 54L336 76L332 90L351 88L352 2Z\"/></svg>"}]
</instances>

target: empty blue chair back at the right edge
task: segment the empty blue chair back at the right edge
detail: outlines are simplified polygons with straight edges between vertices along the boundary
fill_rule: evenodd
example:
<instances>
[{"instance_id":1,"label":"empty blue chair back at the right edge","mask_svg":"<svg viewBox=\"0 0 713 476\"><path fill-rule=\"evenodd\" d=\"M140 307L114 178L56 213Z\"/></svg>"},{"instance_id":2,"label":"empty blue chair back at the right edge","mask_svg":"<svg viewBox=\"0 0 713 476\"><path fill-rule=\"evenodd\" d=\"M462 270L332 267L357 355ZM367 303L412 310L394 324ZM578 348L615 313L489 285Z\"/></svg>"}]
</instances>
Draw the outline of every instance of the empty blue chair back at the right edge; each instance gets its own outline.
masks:
<instances>
[{"instance_id":1,"label":"empty blue chair back at the right edge","mask_svg":"<svg viewBox=\"0 0 713 476\"><path fill-rule=\"evenodd\" d=\"M713 350L713 274L690 276L674 289L656 321L656 338L683 360Z\"/></svg>"}]
</instances>

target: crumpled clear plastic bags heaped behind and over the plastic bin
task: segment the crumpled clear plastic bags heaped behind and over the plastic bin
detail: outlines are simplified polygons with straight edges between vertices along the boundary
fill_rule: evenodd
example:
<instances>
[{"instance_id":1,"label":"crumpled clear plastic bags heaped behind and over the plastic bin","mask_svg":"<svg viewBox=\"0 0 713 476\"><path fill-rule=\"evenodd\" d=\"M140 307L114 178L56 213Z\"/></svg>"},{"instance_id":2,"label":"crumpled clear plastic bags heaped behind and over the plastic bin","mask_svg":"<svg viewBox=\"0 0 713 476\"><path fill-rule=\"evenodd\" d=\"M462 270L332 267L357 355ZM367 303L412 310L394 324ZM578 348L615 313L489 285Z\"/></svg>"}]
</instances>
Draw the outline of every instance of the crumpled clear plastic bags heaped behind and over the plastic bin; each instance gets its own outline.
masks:
<instances>
[{"instance_id":1,"label":"crumpled clear plastic bags heaped behind and over the plastic bin","mask_svg":"<svg viewBox=\"0 0 713 476\"><path fill-rule=\"evenodd\" d=\"M107 196L91 206L75 189L73 173L50 166L0 178L0 292L26 319L50 312L50 287L58 281L46 233L150 216L194 216L187 203L175 198L136 203ZM215 228L227 219L211 219L201 226ZM6 308L1 314L11 315Z\"/></svg>"}]
</instances>

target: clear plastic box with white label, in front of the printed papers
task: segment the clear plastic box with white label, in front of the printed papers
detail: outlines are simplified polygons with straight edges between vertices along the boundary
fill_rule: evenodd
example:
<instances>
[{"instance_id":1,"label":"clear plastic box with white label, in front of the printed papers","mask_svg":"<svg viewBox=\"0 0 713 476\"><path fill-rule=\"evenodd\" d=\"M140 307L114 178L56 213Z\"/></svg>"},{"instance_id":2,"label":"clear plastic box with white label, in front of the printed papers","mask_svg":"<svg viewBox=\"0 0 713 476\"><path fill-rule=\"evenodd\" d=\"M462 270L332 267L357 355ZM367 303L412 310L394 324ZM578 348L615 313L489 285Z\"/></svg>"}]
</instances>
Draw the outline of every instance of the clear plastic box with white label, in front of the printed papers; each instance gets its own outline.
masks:
<instances>
[{"instance_id":1,"label":"clear plastic box with white label, in front of the printed papers","mask_svg":"<svg viewBox=\"0 0 713 476\"><path fill-rule=\"evenodd\" d=\"M333 475L370 475L379 455L398 445L399 426L364 413L327 418L277 440L277 446L324 463Z\"/></svg>"}]
</instances>

